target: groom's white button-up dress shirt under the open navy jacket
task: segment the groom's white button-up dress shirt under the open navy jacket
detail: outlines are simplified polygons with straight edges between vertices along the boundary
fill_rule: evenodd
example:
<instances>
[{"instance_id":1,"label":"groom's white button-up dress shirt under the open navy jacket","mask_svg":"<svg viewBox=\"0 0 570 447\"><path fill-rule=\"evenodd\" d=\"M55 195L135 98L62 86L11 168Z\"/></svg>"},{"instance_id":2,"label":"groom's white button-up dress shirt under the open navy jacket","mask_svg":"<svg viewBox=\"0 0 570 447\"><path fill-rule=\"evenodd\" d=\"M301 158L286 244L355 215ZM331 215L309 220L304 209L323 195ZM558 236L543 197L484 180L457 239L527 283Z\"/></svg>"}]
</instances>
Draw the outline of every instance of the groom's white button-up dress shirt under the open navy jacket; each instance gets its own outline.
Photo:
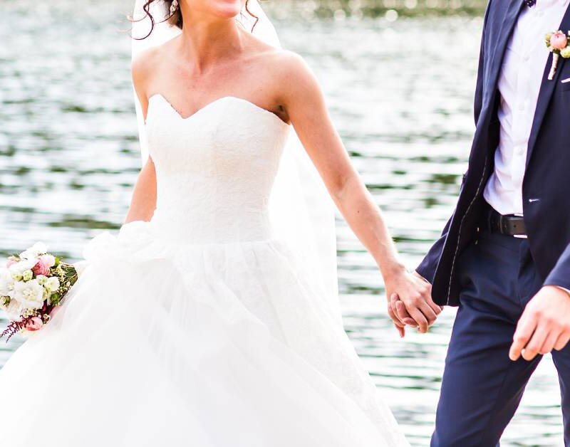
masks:
<instances>
[{"instance_id":1,"label":"groom's white button-up dress shirt under the open navy jacket","mask_svg":"<svg viewBox=\"0 0 570 447\"><path fill-rule=\"evenodd\" d=\"M500 214L522 214L522 179L527 147L549 57L547 33L558 31L570 0L537 0L523 6L499 75L499 147L484 198ZM567 30L566 30L567 31Z\"/></svg>"}]
</instances>

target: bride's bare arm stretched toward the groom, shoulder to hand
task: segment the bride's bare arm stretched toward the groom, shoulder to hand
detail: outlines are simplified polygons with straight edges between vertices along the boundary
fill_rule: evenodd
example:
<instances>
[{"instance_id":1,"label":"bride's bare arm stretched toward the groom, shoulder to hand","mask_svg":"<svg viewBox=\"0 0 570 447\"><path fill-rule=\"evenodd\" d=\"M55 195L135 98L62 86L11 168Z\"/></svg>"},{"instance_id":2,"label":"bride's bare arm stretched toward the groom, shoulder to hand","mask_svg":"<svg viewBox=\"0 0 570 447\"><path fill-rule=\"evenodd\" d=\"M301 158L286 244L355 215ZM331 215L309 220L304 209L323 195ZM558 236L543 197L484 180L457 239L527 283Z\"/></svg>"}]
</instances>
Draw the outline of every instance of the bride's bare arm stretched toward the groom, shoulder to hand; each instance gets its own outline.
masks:
<instances>
[{"instance_id":1,"label":"bride's bare arm stretched toward the groom, shoulder to hand","mask_svg":"<svg viewBox=\"0 0 570 447\"><path fill-rule=\"evenodd\" d=\"M388 313L402 325L390 306L390 296L399 295L406 309L425 332L441 308L431 299L430 285L408 273L398 257L378 206L353 167L341 138L326 110L321 89L304 61L294 54L281 61L286 70L279 76L279 102L284 106L299 139L321 174L338 209L374 257L385 281Z\"/></svg>"}]
</instances>

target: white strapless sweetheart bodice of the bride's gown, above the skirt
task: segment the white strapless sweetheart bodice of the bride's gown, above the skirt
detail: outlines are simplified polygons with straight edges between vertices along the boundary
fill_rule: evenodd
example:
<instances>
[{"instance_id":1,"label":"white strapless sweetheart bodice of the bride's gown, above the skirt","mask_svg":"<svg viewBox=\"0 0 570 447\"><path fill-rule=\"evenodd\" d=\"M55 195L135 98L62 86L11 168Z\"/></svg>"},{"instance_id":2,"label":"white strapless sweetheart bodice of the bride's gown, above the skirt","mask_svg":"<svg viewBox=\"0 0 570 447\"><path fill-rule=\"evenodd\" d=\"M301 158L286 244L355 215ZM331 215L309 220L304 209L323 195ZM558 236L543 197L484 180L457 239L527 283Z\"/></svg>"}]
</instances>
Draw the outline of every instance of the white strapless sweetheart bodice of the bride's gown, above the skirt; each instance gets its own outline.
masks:
<instances>
[{"instance_id":1,"label":"white strapless sweetheart bodice of the bride's gown, above the skirt","mask_svg":"<svg viewBox=\"0 0 570 447\"><path fill-rule=\"evenodd\" d=\"M146 132L157 175L152 226L162 235L197 243L271 237L269 196L289 125L232 96L185 118L153 95Z\"/></svg>"}]
</instances>

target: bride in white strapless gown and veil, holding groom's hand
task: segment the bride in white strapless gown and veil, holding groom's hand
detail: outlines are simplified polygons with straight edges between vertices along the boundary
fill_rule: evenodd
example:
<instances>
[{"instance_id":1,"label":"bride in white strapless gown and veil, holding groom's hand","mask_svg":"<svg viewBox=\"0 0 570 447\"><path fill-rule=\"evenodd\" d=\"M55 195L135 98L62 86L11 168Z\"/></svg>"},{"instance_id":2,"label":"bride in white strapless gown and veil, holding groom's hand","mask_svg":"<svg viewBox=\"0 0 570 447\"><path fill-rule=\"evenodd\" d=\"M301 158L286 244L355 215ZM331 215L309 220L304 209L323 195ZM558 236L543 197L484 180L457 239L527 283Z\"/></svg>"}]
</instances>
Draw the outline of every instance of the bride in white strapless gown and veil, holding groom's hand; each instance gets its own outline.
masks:
<instances>
[{"instance_id":1,"label":"bride in white strapless gown and veil, holding groom's hand","mask_svg":"<svg viewBox=\"0 0 570 447\"><path fill-rule=\"evenodd\" d=\"M1 369L2 445L408 445L343 331L326 201L295 189L305 152L287 161L296 135L388 292L426 286L398 261L313 75L257 1L142 10L138 42L172 32L133 62L150 156L118 236L90 241L66 303Z\"/></svg>"}]
</instances>

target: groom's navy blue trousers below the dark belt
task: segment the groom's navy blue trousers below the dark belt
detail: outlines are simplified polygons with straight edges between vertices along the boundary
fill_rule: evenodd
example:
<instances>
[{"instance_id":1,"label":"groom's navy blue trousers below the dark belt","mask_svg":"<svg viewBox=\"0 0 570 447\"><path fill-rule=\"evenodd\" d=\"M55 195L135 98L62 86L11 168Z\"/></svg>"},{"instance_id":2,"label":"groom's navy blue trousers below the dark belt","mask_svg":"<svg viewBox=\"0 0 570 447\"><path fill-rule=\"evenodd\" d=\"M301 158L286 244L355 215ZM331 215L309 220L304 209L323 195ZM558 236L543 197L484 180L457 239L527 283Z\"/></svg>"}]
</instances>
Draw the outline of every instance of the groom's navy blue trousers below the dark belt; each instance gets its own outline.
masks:
<instances>
[{"instance_id":1,"label":"groom's navy blue trousers below the dark belt","mask_svg":"<svg viewBox=\"0 0 570 447\"><path fill-rule=\"evenodd\" d=\"M480 233L460 256L460 307L445 359L432 447L494 447L540 362L509 359L524 306L541 288L526 239ZM570 446L570 346L552 352ZM532 442L532 440L529 440Z\"/></svg>"}]
</instances>

